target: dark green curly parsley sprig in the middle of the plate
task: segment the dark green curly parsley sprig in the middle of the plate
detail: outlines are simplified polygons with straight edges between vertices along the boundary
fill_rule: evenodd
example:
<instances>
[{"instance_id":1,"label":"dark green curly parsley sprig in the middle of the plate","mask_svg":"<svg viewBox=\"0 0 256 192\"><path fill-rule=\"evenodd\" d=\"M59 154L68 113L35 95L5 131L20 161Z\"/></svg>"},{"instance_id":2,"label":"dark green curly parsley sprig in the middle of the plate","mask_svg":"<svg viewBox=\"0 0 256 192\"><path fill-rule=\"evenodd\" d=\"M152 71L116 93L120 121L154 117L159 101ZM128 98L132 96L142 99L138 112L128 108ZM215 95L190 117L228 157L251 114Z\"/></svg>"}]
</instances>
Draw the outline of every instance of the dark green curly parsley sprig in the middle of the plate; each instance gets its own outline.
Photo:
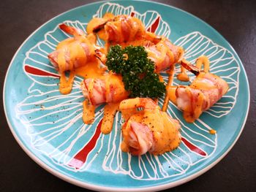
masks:
<instances>
[{"instance_id":1,"label":"dark green curly parsley sprig in the middle of the plate","mask_svg":"<svg viewBox=\"0 0 256 192\"><path fill-rule=\"evenodd\" d=\"M157 98L165 93L165 84L159 81L154 62L148 59L142 46L129 45L123 50L120 45L110 47L106 65L109 70L121 74L130 97Z\"/></svg>"}]
</instances>

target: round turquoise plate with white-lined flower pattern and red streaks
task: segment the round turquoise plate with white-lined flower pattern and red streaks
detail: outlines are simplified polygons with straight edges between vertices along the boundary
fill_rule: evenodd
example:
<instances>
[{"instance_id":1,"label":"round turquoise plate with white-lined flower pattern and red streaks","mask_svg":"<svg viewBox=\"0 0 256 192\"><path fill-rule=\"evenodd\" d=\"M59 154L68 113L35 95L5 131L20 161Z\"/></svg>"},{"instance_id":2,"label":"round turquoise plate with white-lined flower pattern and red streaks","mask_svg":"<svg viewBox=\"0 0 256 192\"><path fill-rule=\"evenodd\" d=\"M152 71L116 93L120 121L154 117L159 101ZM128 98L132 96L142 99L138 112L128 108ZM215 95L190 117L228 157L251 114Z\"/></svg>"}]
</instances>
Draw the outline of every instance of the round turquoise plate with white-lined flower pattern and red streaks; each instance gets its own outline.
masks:
<instances>
[{"instance_id":1,"label":"round turquoise plate with white-lined flower pattern and red streaks","mask_svg":"<svg viewBox=\"0 0 256 192\"><path fill-rule=\"evenodd\" d=\"M195 123L186 123L181 112L169 104L167 112L182 126L181 145L170 153L141 157L122 153L121 114L116 115L113 131L101 134L102 106L97 109L94 124L85 125L81 77L75 77L72 93L59 93L59 74L47 58L68 37L59 30L59 23L85 31L92 17L102 17L105 12L140 18L148 31L165 35L184 47L189 61L207 55L211 72L230 86L227 94ZM167 80L167 74L162 75ZM180 83L174 80L174 85ZM23 150L57 177L94 190L156 191L192 180L227 154L244 128L249 85L235 50L195 16L148 1L98 2L64 12L23 42L4 82L4 108L12 134ZM217 134L209 134L211 128Z\"/></svg>"}]
</instances>

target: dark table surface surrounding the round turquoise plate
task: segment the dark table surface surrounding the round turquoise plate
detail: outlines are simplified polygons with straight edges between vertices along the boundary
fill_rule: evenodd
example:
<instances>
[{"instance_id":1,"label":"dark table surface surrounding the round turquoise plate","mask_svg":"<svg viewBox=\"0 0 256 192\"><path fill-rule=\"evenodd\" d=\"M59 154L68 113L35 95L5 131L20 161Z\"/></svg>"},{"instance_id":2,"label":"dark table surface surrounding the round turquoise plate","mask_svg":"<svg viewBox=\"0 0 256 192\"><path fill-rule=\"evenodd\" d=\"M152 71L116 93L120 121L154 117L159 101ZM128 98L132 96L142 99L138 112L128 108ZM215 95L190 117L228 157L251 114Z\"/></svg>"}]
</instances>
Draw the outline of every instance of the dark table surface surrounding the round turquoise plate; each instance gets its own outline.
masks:
<instances>
[{"instance_id":1,"label":"dark table surface surrounding the round turquoise plate","mask_svg":"<svg viewBox=\"0 0 256 192\"><path fill-rule=\"evenodd\" d=\"M0 1L1 90L15 51L35 29L61 12L93 1ZM196 15L234 47L249 78L251 101L241 137L222 161L173 191L256 190L256 4L253 1L159 1ZM1 95L2 97L2 95ZM1 98L2 100L2 98ZM0 191L84 191L46 172L29 158L11 134L1 102Z\"/></svg>"}]
</instances>

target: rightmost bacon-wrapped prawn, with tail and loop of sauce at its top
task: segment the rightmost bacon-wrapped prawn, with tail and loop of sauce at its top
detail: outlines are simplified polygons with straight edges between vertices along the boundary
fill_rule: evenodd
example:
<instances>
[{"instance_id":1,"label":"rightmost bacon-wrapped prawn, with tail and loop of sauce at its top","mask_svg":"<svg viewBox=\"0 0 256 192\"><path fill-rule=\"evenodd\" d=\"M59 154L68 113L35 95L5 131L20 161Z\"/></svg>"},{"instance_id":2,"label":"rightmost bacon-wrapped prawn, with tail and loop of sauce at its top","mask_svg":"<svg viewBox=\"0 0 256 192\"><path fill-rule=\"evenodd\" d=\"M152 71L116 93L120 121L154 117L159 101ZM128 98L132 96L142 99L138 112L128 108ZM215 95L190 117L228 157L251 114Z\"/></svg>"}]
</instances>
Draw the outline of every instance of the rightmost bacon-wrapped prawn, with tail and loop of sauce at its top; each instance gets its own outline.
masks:
<instances>
[{"instance_id":1,"label":"rightmost bacon-wrapped prawn, with tail and loop of sauce at its top","mask_svg":"<svg viewBox=\"0 0 256 192\"><path fill-rule=\"evenodd\" d=\"M205 64L204 72L200 72L200 69L187 61L181 61L181 65L193 72L196 78L189 86L180 85L169 89L170 100L183 111L184 119L188 123L193 123L228 91L225 80L208 72L208 58L203 56L197 60L197 64L201 65L202 62Z\"/></svg>"}]
</instances>

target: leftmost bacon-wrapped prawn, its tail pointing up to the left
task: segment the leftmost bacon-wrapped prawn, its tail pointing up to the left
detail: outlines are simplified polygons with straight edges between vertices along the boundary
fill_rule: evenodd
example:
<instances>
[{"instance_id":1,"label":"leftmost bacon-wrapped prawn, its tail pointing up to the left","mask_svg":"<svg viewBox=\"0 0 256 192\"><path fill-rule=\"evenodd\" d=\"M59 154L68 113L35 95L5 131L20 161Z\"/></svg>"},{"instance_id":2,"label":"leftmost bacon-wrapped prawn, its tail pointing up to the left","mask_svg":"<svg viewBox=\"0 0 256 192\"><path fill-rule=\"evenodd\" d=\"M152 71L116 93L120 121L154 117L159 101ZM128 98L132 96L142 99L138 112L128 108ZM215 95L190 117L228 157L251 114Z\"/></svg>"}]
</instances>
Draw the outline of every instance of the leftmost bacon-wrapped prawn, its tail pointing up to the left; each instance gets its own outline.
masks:
<instances>
[{"instance_id":1,"label":"leftmost bacon-wrapped prawn, its tail pointing up to the left","mask_svg":"<svg viewBox=\"0 0 256 192\"><path fill-rule=\"evenodd\" d=\"M48 55L50 62L59 72L84 66L94 59L97 54L102 56L99 47L95 45L97 38L94 34L86 36L80 29L65 24L59 25L59 28L74 36L60 42L56 50Z\"/></svg>"}]
</instances>

